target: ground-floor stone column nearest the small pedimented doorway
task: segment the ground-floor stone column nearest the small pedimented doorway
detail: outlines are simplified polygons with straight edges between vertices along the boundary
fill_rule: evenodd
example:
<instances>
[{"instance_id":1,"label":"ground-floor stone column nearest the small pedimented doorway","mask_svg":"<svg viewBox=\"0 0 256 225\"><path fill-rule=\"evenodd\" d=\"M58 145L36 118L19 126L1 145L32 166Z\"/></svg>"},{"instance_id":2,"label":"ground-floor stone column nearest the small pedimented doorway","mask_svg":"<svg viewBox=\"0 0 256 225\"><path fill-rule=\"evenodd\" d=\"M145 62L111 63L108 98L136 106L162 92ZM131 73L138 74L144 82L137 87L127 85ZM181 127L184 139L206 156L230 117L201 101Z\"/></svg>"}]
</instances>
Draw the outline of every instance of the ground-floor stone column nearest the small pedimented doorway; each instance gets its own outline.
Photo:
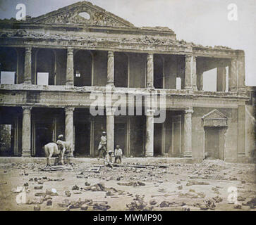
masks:
<instances>
[{"instance_id":1,"label":"ground-floor stone column nearest the small pedimented doorway","mask_svg":"<svg viewBox=\"0 0 256 225\"><path fill-rule=\"evenodd\" d=\"M193 108L185 110L184 114L184 153L185 158L192 157L192 113Z\"/></svg>"}]
</instances>

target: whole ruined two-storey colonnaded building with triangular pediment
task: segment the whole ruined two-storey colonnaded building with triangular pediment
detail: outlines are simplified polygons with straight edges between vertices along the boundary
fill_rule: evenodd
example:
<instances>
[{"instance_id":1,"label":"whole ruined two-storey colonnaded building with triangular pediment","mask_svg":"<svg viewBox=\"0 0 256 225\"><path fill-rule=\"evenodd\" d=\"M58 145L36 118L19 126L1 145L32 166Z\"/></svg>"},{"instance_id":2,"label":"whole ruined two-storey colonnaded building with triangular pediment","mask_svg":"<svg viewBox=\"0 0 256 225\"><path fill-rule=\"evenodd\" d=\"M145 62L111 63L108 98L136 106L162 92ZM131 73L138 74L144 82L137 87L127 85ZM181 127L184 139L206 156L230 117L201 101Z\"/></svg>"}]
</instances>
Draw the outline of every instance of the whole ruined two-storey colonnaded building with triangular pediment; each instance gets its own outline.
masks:
<instances>
[{"instance_id":1,"label":"whole ruined two-storey colonnaded building with triangular pediment","mask_svg":"<svg viewBox=\"0 0 256 225\"><path fill-rule=\"evenodd\" d=\"M253 160L242 50L179 41L167 27L135 27L87 1L0 20L0 49L1 156L43 156L42 146L64 134L73 142L67 156L96 157L106 131L108 148L118 144L127 157ZM166 120L153 123L155 111L143 101L142 115L116 115L105 105L93 116L90 94L106 86L126 96L164 91Z\"/></svg>"}]
</instances>

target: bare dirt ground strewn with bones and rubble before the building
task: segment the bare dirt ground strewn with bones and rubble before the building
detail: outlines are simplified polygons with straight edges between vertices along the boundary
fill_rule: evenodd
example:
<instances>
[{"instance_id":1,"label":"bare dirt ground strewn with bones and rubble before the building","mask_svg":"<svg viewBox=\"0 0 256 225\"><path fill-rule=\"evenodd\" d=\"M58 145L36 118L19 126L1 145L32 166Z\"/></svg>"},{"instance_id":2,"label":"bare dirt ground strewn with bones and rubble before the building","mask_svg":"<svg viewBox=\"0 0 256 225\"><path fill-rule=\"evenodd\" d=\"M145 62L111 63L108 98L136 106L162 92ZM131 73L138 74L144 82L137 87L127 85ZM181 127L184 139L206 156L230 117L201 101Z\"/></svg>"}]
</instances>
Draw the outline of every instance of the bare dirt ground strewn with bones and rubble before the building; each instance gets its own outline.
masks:
<instances>
[{"instance_id":1,"label":"bare dirt ground strewn with bones and rubble before the building","mask_svg":"<svg viewBox=\"0 0 256 225\"><path fill-rule=\"evenodd\" d=\"M253 164L96 165L1 164L0 210L256 210Z\"/></svg>"}]
</instances>

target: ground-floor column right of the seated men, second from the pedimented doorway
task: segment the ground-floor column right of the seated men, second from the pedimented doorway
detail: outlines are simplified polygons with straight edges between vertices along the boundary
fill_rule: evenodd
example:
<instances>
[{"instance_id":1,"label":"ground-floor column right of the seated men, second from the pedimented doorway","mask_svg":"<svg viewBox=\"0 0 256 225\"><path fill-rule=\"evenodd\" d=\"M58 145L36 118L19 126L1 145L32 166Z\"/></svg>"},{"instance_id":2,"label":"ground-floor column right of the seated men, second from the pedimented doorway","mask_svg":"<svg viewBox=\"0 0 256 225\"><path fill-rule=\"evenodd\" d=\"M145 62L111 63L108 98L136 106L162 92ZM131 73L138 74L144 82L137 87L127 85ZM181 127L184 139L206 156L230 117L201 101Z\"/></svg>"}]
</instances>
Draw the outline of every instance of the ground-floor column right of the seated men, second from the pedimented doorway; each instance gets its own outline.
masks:
<instances>
[{"instance_id":1,"label":"ground-floor column right of the seated men, second from the pedimented doorway","mask_svg":"<svg viewBox=\"0 0 256 225\"><path fill-rule=\"evenodd\" d=\"M154 155L154 110L147 110L145 156Z\"/></svg>"}]
</instances>

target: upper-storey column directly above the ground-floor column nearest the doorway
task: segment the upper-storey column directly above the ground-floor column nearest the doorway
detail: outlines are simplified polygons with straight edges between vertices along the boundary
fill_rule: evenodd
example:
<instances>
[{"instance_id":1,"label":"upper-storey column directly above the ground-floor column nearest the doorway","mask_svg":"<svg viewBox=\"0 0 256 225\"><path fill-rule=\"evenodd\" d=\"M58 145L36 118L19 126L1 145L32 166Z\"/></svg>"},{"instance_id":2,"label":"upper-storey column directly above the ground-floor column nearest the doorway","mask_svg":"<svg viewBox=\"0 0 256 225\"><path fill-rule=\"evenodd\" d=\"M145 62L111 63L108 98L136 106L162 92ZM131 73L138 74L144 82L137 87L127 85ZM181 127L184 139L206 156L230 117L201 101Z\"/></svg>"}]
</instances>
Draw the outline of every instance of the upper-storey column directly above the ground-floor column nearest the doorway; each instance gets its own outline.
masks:
<instances>
[{"instance_id":1,"label":"upper-storey column directly above the ground-floor column nearest the doorway","mask_svg":"<svg viewBox=\"0 0 256 225\"><path fill-rule=\"evenodd\" d=\"M193 56L185 56L185 89L187 90L193 90L193 70L195 68L194 63L195 62Z\"/></svg>"}]
</instances>

